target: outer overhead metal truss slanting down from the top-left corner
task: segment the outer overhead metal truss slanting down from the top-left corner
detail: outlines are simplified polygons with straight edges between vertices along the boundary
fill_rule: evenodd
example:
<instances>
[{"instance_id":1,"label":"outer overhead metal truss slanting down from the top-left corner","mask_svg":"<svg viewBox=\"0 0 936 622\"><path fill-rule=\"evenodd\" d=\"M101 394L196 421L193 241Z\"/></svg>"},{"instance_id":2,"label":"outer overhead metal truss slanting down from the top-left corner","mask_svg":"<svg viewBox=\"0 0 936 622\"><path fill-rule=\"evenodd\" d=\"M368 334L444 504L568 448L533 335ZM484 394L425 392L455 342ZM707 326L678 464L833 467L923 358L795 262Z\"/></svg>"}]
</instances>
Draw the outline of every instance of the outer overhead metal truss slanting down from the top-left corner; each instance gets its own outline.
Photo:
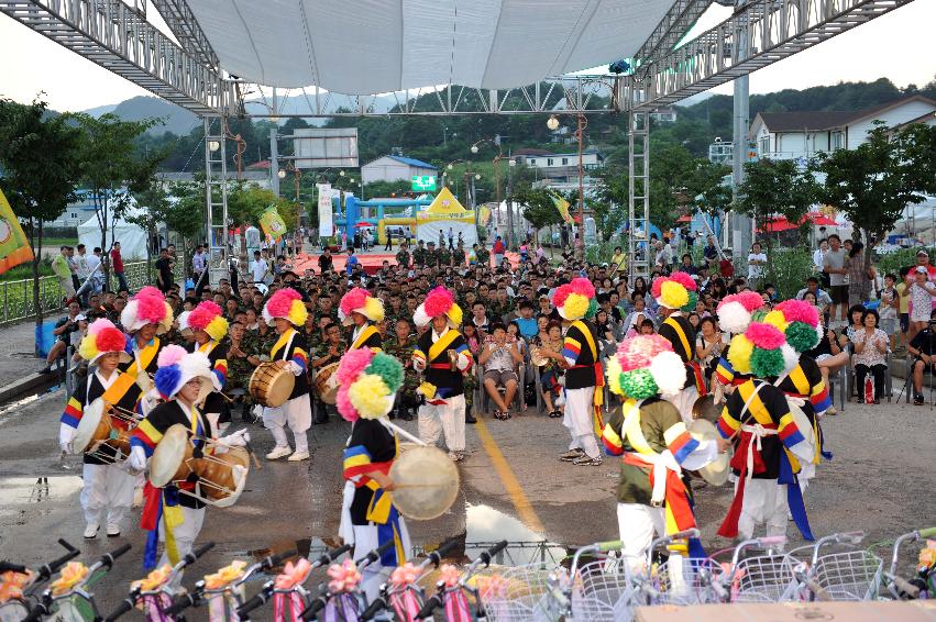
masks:
<instances>
[{"instance_id":1,"label":"outer overhead metal truss slanting down from the top-left corner","mask_svg":"<svg viewBox=\"0 0 936 622\"><path fill-rule=\"evenodd\" d=\"M233 101L230 81L121 0L0 0L0 12L196 114Z\"/></svg>"}]
</instances>

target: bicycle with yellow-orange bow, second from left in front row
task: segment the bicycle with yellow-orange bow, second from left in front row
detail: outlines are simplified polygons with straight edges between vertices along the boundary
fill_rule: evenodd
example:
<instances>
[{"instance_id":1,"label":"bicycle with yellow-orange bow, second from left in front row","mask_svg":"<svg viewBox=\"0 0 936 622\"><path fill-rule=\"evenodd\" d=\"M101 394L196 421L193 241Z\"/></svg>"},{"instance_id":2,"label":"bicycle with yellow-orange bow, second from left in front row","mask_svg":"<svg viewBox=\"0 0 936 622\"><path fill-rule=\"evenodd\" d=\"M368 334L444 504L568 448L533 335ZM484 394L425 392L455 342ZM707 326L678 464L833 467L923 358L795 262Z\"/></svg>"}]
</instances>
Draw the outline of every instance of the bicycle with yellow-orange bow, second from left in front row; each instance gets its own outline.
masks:
<instances>
[{"instance_id":1,"label":"bicycle with yellow-orange bow, second from left in front row","mask_svg":"<svg viewBox=\"0 0 936 622\"><path fill-rule=\"evenodd\" d=\"M30 610L23 622L36 622L46 615L55 613L56 622L85 622L100 620L101 614L95 602L93 592L86 588L106 575L113 567L114 560L130 551L130 544L102 555L90 567L79 562L66 565L58 578L42 593L40 602ZM100 571L100 573L99 573Z\"/></svg>"}]
</instances>

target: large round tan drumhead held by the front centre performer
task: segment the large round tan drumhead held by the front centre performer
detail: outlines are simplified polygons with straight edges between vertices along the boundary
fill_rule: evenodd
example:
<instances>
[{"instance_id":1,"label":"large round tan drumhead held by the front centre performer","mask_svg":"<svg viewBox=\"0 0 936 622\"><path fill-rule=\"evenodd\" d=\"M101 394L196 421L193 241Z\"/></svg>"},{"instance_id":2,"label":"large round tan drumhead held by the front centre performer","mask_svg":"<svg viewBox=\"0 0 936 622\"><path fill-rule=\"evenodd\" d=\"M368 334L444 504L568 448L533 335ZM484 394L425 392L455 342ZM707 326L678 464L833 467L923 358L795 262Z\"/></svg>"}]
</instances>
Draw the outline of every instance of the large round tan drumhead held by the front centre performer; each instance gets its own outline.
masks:
<instances>
[{"instance_id":1,"label":"large round tan drumhead held by the front centre performer","mask_svg":"<svg viewBox=\"0 0 936 622\"><path fill-rule=\"evenodd\" d=\"M414 447L403 452L390 467L396 482L394 506L400 514L417 521L442 515L459 496L459 469L436 447Z\"/></svg>"}]
</instances>

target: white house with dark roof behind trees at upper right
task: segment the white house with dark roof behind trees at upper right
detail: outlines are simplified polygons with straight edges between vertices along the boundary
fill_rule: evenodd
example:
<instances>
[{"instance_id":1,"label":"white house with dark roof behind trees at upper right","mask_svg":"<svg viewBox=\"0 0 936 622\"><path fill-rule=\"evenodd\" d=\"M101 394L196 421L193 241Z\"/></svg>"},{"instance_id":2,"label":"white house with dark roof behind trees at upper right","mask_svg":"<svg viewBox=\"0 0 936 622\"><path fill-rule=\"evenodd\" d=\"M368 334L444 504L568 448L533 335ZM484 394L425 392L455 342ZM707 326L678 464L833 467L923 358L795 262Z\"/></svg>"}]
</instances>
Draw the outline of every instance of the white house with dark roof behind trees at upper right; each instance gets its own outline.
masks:
<instances>
[{"instance_id":1,"label":"white house with dark roof behind trees at upper right","mask_svg":"<svg viewBox=\"0 0 936 622\"><path fill-rule=\"evenodd\" d=\"M923 96L850 112L759 112L748 137L757 144L758 157L808 158L818 152L854 149L867 140L876 121L889 127L933 123L934 112L936 101Z\"/></svg>"}]
</instances>

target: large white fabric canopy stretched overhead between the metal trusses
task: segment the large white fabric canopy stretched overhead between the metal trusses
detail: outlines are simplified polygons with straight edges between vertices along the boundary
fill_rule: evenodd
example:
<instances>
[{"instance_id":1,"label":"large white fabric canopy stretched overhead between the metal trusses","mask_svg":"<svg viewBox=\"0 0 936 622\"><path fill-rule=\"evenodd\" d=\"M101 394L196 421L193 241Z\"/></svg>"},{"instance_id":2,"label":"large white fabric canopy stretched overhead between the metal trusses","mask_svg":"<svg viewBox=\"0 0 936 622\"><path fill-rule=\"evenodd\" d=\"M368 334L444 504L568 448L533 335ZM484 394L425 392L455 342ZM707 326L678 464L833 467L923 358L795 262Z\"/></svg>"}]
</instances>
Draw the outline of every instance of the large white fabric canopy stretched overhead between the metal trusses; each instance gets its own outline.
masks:
<instances>
[{"instance_id":1,"label":"large white fabric canopy stretched overhead between the metal trusses","mask_svg":"<svg viewBox=\"0 0 936 622\"><path fill-rule=\"evenodd\" d=\"M502 89L632 56L672 0L188 0L221 66L374 95Z\"/></svg>"}]
</instances>

